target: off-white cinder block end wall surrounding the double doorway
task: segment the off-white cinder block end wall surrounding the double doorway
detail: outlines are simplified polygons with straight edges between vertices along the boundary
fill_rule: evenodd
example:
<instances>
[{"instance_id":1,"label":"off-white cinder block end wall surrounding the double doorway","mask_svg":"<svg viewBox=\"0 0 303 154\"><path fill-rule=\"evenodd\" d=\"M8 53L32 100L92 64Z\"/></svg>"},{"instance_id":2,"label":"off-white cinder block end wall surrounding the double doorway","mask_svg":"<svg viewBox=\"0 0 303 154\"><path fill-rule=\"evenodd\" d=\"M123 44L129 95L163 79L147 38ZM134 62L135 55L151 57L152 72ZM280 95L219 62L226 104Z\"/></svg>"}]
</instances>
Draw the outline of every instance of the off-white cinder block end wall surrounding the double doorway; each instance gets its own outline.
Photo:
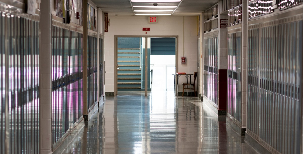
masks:
<instances>
[{"instance_id":1,"label":"off-white cinder block end wall surrounding the double doorway","mask_svg":"<svg viewBox=\"0 0 303 154\"><path fill-rule=\"evenodd\" d=\"M186 64L181 64L183 56L183 16L158 16L158 23L148 23L148 16L108 16L110 26L104 33L105 51L105 92L114 92L114 36L178 36L178 72L193 73L197 70L197 16L184 17L184 56ZM149 27L150 31L145 34L143 27ZM193 77L192 77L193 78ZM173 81L172 81L173 82ZM179 78L179 91L185 77ZM193 82L193 81L192 81Z\"/></svg>"}]
</instances>

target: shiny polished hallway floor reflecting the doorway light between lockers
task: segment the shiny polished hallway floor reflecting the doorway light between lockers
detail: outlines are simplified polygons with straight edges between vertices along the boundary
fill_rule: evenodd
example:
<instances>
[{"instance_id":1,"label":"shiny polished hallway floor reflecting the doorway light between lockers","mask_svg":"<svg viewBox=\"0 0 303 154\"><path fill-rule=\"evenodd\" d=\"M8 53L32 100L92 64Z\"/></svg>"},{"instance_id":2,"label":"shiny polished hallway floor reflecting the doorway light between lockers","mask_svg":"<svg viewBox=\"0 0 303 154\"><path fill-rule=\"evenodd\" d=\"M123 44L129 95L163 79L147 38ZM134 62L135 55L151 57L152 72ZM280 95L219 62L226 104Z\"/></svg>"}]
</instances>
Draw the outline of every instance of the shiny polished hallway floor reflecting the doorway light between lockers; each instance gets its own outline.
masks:
<instances>
[{"instance_id":1,"label":"shiny polished hallway floor reflecting the doorway light between lockers","mask_svg":"<svg viewBox=\"0 0 303 154\"><path fill-rule=\"evenodd\" d=\"M257 153L197 97L121 92L55 153Z\"/></svg>"}]
</instances>

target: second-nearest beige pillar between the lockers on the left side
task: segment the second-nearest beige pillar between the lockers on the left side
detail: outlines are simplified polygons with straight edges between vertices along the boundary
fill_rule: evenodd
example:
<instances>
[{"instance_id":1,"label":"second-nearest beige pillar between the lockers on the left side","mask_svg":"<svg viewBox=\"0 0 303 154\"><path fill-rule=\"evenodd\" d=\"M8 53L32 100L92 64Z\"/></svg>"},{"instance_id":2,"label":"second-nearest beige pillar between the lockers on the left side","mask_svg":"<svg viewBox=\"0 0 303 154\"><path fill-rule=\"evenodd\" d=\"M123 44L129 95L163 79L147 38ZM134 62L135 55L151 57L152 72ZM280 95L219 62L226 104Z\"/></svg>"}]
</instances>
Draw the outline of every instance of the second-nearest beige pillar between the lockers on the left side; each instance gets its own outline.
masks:
<instances>
[{"instance_id":1,"label":"second-nearest beige pillar between the lockers on the left side","mask_svg":"<svg viewBox=\"0 0 303 154\"><path fill-rule=\"evenodd\" d=\"M83 0L83 118L88 121L87 108L87 0Z\"/></svg>"}]
</instances>

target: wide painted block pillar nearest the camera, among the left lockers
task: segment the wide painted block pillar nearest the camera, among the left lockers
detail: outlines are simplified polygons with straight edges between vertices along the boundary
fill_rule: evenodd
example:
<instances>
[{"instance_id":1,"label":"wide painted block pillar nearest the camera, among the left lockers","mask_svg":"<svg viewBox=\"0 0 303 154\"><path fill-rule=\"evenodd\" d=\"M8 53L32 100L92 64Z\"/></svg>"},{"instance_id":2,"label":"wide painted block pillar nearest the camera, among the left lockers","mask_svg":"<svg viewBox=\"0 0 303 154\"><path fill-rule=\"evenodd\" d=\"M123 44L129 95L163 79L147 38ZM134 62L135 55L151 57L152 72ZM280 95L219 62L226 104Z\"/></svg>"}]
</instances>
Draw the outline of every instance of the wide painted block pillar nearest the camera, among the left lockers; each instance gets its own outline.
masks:
<instances>
[{"instance_id":1,"label":"wide painted block pillar nearest the camera, among the left lockers","mask_svg":"<svg viewBox=\"0 0 303 154\"><path fill-rule=\"evenodd\" d=\"M52 0L43 0L40 5L40 152L52 152Z\"/></svg>"}]
</instances>

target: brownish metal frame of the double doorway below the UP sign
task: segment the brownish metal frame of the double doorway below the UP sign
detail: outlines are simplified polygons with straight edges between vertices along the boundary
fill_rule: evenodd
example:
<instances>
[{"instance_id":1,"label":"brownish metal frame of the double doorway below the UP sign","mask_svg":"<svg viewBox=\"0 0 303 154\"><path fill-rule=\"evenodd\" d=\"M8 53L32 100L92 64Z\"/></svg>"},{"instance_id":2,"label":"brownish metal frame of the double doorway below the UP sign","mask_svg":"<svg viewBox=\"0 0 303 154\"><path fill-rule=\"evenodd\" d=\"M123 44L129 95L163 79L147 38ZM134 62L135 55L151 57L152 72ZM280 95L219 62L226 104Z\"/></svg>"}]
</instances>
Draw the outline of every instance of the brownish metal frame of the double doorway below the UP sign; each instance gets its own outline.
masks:
<instances>
[{"instance_id":1,"label":"brownish metal frame of the double doorway below the UP sign","mask_svg":"<svg viewBox=\"0 0 303 154\"><path fill-rule=\"evenodd\" d=\"M147 42L147 38L149 37L174 37L176 38L176 50L175 50L175 64L176 64L176 72L178 72L178 35L169 35L169 36L163 36L163 35L114 35L114 50L115 50L115 54L114 54L114 96L118 95L118 70L117 70L117 65L118 65L118 37L145 37L145 96L147 96L147 56L148 55L148 42Z\"/></svg>"}]
</instances>

